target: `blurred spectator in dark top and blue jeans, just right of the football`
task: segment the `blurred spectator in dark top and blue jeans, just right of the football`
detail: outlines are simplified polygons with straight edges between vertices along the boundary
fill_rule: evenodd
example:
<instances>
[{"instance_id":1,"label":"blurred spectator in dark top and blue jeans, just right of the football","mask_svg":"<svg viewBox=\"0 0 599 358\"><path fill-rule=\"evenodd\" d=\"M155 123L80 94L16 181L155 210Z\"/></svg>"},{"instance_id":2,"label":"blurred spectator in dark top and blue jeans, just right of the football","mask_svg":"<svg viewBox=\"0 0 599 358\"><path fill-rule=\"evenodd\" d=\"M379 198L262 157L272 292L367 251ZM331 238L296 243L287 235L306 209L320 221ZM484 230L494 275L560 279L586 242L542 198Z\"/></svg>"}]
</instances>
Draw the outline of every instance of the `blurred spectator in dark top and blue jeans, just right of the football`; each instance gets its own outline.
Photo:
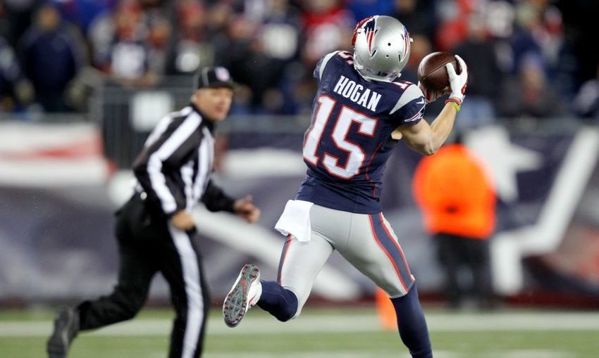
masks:
<instances>
[{"instance_id":1,"label":"blurred spectator in dark top and blue jeans, just right of the football","mask_svg":"<svg viewBox=\"0 0 599 358\"><path fill-rule=\"evenodd\" d=\"M471 14L467 38L453 53L468 64L468 101L459 113L459 128L471 128L495 122L493 98L499 94L502 75L495 55L495 44L488 37L483 18Z\"/></svg>"}]
</instances>

